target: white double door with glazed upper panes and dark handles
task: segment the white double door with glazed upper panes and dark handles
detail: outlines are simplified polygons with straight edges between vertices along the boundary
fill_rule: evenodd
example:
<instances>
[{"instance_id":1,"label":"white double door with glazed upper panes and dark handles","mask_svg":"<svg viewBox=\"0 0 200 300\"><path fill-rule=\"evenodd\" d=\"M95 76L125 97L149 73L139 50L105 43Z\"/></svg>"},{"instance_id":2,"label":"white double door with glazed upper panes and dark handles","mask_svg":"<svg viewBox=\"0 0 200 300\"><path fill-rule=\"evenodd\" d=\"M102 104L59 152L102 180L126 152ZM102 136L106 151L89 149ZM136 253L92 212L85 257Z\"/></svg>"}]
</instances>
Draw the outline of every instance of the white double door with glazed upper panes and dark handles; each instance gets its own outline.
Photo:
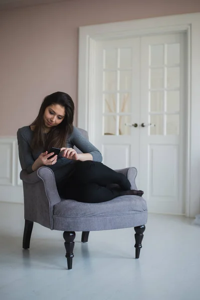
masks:
<instances>
[{"instance_id":1,"label":"white double door with glazed upper panes and dark handles","mask_svg":"<svg viewBox=\"0 0 200 300\"><path fill-rule=\"evenodd\" d=\"M185 212L184 52L183 33L97 42L94 143L137 168L151 212Z\"/></svg>"}]
</instances>

